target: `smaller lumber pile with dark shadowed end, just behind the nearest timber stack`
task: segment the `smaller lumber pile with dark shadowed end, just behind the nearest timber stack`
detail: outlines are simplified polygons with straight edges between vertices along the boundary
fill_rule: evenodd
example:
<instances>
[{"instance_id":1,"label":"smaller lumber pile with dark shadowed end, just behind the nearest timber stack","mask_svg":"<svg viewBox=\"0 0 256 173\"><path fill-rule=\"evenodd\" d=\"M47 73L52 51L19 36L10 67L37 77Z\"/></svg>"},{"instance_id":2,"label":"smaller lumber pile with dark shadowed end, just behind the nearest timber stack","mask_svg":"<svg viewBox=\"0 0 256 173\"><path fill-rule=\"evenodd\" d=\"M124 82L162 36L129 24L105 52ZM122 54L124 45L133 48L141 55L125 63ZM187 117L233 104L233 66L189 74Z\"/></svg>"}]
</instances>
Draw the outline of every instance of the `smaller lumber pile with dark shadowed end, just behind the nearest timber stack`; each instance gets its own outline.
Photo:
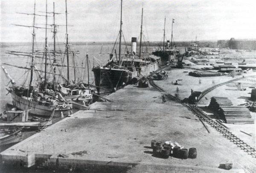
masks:
<instances>
[{"instance_id":1,"label":"smaller lumber pile with dark shadowed end, just behind the nearest timber stack","mask_svg":"<svg viewBox=\"0 0 256 173\"><path fill-rule=\"evenodd\" d=\"M232 106L232 102L227 97L212 97L208 108L218 111L221 106Z\"/></svg>"}]
</instances>

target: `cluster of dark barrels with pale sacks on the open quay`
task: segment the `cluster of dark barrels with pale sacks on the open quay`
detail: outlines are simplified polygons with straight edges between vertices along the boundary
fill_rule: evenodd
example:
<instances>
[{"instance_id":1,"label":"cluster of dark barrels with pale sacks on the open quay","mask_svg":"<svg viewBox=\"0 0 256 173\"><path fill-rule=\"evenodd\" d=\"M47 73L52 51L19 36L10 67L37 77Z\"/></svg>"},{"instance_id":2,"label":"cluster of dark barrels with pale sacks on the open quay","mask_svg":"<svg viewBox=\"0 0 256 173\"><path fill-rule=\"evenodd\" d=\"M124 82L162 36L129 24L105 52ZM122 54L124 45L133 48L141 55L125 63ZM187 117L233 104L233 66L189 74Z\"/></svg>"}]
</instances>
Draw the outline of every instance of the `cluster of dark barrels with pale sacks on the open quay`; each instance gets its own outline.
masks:
<instances>
[{"instance_id":1,"label":"cluster of dark barrels with pale sacks on the open quay","mask_svg":"<svg viewBox=\"0 0 256 173\"><path fill-rule=\"evenodd\" d=\"M164 144L162 141L151 141L151 148L153 149L153 156L168 159L169 156L178 159L195 159L197 157L196 148L186 149L180 146L177 142L166 141Z\"/></svg>"}]
</instances>

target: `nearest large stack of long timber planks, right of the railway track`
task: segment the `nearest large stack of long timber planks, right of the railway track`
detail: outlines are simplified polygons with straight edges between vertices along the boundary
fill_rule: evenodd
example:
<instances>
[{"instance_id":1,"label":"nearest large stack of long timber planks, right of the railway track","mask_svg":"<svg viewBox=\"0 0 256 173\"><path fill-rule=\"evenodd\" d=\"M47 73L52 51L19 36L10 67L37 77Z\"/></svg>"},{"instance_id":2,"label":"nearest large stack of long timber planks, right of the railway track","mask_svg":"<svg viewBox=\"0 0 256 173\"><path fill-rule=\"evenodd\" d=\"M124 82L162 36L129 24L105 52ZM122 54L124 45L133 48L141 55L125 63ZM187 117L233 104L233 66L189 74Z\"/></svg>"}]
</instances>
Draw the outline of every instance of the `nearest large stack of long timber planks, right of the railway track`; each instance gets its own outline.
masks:
<instances>
[{"instance_id":1,"label":"nearest large stack of long timber planks, right of the railway track","mask_svg":"<svg viewBox=\"0 0 256 173\"><path fill-rule=\"evenodd\" d=\"M228 124L254 124L250 111L243 106L221 106L219 115Z\"/></svg>"}]
</instances>

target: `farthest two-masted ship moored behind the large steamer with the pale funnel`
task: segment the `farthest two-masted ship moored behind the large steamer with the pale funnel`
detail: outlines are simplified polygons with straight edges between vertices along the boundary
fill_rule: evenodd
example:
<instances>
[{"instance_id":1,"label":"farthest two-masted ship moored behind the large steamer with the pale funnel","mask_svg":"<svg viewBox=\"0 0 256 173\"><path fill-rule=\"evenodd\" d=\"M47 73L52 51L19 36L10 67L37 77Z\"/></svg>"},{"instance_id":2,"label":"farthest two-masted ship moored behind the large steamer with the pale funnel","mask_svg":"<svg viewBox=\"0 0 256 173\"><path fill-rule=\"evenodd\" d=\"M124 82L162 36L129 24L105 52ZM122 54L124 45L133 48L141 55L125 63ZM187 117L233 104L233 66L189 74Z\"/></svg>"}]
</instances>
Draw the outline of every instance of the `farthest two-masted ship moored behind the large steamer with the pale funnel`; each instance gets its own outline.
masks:
<instances>
[{"instance_id":1,"label":"farthest two-masted ship moored behind the large steamer with the pale funnel","mask_svg":"<svg viewBox=\"0 0 256 173\"><path fill-rule=\"evenodd\" d=\"M172 27L175 19L172 19ZM176 58L180 58L180 52L175 48L175 44L172 45L173 37L171 38L171 43L167 40L165 44L165 26L166 26L166 17L164 18L164 29L163 29L163 49L159 46L160 50L152 52L153 55L161 58L163 64L174 62Z\"/></svg>"}]
</instances>

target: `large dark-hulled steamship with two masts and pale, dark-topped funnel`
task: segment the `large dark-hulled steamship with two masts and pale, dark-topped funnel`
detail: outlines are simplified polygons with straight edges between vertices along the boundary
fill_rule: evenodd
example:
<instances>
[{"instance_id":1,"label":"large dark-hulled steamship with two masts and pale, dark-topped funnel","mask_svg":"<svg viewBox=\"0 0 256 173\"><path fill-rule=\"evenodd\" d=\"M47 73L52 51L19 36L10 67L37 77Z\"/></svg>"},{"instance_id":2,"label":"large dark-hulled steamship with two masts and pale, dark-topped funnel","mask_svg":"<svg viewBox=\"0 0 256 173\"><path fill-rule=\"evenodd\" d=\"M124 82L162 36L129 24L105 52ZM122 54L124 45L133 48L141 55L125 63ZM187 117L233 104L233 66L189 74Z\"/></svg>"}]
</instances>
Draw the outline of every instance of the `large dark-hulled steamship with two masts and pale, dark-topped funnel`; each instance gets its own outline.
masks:
<instances>
[{"instance_id":1,"label":"large dark-hulled steamship with two masts and pale, dark-topped funnel","mask_svg":"<svg viewBox=\"0 0 256 173\"><path fill-rule=\"evenodd\" d=\"M116 50L115 55L112 53L109 55L110 59L105 66L93 66L93 73L95 78L96 86L104 87L115 91L120 87L129 84L132 78L138 76L149 75L151 72L156 71L160 67L160 58L155 56L143 56L141 53L142 47L142 29L143 29L143 9L141 19L141 30L140 30L140 53L137 56L136 46L137 38L131 38L131 52L126 47L126 53L121 57L121 42L122 42L122 0L121 0L121 17L120 17L120 30L119 30L119 56L117 58ZM100 88L97 88L100 93Z\"/></svg>"}]
</instances>

